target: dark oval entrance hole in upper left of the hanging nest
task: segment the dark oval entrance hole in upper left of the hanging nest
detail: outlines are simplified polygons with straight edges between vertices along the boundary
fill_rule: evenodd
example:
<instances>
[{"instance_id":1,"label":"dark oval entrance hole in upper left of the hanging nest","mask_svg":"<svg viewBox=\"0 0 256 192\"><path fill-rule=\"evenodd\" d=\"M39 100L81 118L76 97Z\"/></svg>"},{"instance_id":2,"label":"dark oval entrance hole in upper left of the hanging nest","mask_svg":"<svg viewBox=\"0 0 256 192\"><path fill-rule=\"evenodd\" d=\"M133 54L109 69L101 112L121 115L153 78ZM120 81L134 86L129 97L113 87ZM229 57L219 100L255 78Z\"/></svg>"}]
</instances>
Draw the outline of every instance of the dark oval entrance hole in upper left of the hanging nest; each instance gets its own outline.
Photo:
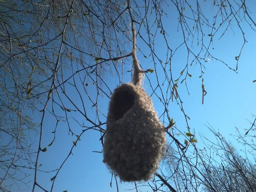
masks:
<instances>
[{"instance_id":1,"label":"dark oval entrance hole in upper left of the hanging nest","mask_svg":"<svg viewBox=\"0 0 256 192\"><path fill-rule=\"evenodd\" d=\"M134 105L135 95L130 90L119 90L113 98L113 115L121 119Z\"/></svg>"}]
</instances>

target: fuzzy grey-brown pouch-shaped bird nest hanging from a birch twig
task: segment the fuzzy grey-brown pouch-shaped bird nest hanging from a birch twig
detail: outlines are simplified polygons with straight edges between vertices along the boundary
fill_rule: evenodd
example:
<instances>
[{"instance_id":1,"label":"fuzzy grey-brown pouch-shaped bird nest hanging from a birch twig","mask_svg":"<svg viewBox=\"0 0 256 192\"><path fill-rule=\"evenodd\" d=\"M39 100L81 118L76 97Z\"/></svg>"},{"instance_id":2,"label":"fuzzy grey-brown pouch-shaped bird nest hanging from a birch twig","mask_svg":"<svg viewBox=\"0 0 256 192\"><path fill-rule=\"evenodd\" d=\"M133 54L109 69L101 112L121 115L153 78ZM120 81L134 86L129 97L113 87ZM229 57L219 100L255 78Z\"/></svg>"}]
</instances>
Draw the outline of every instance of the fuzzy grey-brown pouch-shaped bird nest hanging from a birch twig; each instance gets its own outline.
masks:
<instances>
[{"instance_id":1,"label":"fuzzy grey-brown pouch-shaped bird nest hanging from a birch twig","mask_svg":"<svg viewBox=\"0 0 256 192\"><path fill-rule=\"evenodd\" d=\"M109 103L104 160L122 181L149 180L157 172L166 136L151 98L133 84L117 87Z\"/></svg>"}]
</instances>

